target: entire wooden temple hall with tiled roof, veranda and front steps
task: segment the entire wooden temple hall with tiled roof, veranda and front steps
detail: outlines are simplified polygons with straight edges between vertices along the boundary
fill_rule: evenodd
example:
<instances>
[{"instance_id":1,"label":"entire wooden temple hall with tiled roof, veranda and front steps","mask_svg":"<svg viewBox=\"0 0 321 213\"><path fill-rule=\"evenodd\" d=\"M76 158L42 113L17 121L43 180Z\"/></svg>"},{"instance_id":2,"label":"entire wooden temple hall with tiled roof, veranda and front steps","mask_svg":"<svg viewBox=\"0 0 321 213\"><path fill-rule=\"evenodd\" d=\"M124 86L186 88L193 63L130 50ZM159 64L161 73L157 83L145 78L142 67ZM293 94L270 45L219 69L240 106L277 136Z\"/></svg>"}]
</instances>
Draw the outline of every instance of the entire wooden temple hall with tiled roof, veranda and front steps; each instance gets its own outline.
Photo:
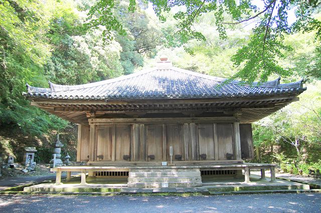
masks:
<instances>
[{"instance_id":1,"label":"entire wooden temple hall with tiled roof, veranda and front steps","mask_svg":"<svg viewBox=\"0 0 321 213\"><path fill-rule=\"evenodd\" d=\"M77 161L56 167L88 176L128 177L128 187L199 186L205 177L233 178L275 164L253 158L251 123L298 100L302 80L252 86L174 67L161 58L154 68L82 85L49 88L27 84L31 104L77 123ZM68 176L68 175L67 175ZM242 176L241 176L242 177Z\"/></svg>"}]
</instances>

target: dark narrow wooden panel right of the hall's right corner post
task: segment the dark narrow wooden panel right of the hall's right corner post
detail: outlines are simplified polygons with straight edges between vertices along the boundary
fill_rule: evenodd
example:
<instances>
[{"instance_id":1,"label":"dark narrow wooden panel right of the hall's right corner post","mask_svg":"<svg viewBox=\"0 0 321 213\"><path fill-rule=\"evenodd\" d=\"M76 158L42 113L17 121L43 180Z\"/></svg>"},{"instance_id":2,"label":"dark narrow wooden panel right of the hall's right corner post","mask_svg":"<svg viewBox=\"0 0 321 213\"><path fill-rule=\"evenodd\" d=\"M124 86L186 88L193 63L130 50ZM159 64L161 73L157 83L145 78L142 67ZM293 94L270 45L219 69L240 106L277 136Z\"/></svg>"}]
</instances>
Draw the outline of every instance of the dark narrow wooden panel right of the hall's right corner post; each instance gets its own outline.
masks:
<instances>
[{"instance_id":1,"label":"dark narrow wooden panel right of the hall's right corner post","mask_svg":"<svg viewBox=\"0 0 321 213\"><path fill-rule=\"evenodd\" d=\"M240 124L240 138L242 159L253 159L254 152L251 123Z\"/></svg>"}]
</instances>

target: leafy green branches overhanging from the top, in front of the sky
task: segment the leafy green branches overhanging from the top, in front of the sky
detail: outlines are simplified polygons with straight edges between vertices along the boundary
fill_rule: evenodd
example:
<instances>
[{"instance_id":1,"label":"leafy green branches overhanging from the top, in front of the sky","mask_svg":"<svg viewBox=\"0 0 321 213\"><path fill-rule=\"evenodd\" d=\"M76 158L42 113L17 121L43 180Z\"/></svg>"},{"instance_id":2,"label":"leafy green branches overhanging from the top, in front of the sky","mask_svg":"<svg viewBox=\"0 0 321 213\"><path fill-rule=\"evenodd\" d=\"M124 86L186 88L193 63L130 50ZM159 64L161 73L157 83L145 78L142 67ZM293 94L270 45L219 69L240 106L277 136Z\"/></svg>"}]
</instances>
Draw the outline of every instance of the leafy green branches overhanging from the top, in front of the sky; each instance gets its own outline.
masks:
<instances>
[{"instance_id":1,"label":"leafy green branches overhanging from the top, in front of the sky","mask_svg":"<svg viewBox=\"0 0 321 213\"><path fill-rule=\"evenodd\" d=\"M191 39L206 40L207 37L194 24L198 19L211 13L213 24L216 25L222 39L227 37L227 27L238 24L248 24L256 20L252 34L246 45L240 47L233 55L232 61L240 67L232 78L240 78L245 83L258 79L266 81L275 73L288 76L291 70L278 64L278 58L284 58L283 50L291 49L283 42L285 34L299 31L316 31L316 42L320 42L321 21L313 17L315 10L319 9L318 0L144 0L139 3L150 2L153 9L162 21L167 20L166 13L176 10L173 17L178 20L172 33L166 35L170 46L185 46ZM103 25L103 35L106 40L112 40L113 31L126 34L124 25L117 18L114 8L119 1L98 0L89 10L89 27ZM256 4L255 4L256 3ZM134 12L139 8L136 0L129 0L128 11ZM295 20L289 22L290 10L295 11ZM317 50L318 51L318 50ZM318 75L318 74L316 74Z\"/></svg>"}]
</instances>

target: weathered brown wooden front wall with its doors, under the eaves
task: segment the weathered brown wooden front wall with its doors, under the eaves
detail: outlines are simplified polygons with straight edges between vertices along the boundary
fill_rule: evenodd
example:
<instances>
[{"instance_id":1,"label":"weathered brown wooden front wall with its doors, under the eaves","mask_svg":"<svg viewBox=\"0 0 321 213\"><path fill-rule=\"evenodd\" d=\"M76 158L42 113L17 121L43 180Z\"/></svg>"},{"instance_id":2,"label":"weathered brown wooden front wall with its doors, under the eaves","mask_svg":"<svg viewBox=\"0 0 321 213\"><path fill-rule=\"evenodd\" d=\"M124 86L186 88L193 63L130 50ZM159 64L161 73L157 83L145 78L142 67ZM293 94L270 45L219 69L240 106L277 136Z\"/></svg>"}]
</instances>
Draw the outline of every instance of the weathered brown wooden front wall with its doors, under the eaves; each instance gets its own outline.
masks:
<instances>
[{"instance_id":1,"label":"weathered brown wooden front wall with its doors, under the eaves","mask_svg":"<svg viewBox=\"0 0 321 213\"><path fill-rule=\"evenodd\" d=\"M238 122L91 124L90 131L83 129L78 153L89 161L170 161L171 146L173 161L241 159Z\"/></svg>"}]
</instances>

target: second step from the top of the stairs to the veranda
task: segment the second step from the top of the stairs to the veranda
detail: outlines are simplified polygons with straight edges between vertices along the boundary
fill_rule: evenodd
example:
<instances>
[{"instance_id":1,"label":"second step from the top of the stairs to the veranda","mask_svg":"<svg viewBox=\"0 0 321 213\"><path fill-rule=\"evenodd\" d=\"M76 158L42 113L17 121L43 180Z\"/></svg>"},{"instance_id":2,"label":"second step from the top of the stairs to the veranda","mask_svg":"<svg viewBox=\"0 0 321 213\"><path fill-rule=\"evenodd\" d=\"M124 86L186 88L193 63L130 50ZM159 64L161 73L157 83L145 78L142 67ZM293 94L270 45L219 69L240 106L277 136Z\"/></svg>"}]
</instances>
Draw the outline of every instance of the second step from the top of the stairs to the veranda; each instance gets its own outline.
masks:
<instances>
[{"instance_id":1,"label":"second step from the top of the stairs to the veranda","mask_svg":"<svg viewBox=\"0 0 321 213\"><path fill-rule=\"evenodd\" d=\"M128 182L200 182L201 177L128 177Z\"/></svg>"}]
</instances>

